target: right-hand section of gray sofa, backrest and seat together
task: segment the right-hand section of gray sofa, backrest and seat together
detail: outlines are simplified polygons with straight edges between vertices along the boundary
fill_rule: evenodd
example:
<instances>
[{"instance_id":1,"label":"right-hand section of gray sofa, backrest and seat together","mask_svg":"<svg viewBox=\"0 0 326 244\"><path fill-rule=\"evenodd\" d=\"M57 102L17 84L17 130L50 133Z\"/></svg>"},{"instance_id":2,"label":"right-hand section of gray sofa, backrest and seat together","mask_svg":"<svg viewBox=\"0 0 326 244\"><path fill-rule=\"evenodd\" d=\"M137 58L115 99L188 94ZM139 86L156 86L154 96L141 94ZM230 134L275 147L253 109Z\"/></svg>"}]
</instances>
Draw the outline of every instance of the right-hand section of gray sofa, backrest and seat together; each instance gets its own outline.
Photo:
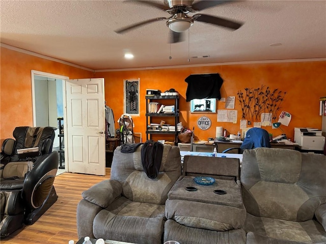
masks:
<instances>
[{"instance_id":1,"label":"right-hand section of gray sofa, backrest and seat together","mask_svg":"<svg viewBox=\"0 0 326 244\"><path fill-rule=\"evenodd\" d=\"M326 243L326 156L246 150L240 177L247 243Z\"/></svg>"}]
</instances>

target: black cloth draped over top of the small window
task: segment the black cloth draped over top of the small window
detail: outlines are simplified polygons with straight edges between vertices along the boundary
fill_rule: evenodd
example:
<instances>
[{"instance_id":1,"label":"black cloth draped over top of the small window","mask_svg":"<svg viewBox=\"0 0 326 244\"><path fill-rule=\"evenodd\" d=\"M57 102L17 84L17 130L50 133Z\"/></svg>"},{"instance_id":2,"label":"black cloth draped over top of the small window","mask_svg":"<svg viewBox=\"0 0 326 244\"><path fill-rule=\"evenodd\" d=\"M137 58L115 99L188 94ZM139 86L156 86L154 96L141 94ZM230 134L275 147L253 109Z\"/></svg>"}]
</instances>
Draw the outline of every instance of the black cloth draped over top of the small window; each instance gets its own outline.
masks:
<instances>
[{"instance_id":1,"label":"black cloth draped over top of the small window","mask_svg":"<svg viewBox=\"0 0 326 244\"><path fill-rule=\"evenodd\" d=\"M220 74L192 74L184 80L188 83L186 101L193 99L216 98L221 99L220 88L223 79Z\"/></svg>"}]
</instances>

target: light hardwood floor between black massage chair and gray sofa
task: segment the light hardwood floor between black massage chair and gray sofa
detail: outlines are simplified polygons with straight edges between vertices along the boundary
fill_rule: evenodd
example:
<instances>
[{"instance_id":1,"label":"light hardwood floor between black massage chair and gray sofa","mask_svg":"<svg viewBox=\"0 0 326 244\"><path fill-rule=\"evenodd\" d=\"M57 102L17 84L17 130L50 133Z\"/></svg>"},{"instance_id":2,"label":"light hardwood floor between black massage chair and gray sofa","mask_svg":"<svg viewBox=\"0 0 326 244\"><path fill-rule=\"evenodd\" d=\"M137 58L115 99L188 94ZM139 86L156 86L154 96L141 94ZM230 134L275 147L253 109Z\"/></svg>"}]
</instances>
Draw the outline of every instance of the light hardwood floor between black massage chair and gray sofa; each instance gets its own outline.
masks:
<instances>
[{"instance_id":1,"label":"light hardwood floor between black massage chair and gray sofa","mask_svg":"<svg viewBox=\"0 0 326 244\"><path fill-rule=\"evenodd\" d=\"M77 242L76 209L82 199L82 192L104 179L109 179L111 168L106 168L105 176L63 173L56 176L54 186L58 200L33 225L25 226L1 244Z\"/></svg>"}]
</instances>

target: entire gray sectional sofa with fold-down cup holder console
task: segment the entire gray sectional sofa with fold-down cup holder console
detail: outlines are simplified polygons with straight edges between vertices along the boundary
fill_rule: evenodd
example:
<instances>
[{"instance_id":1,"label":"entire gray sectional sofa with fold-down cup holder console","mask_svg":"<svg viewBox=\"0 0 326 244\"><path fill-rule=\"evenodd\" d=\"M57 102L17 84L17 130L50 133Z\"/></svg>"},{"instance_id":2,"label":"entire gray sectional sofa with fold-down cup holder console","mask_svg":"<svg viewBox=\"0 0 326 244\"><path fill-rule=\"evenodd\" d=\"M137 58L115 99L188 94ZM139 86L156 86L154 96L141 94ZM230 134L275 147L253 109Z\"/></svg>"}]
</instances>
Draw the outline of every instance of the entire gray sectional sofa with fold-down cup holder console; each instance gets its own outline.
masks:
<instances>
[{"instance_id":1,"label":"entire gray sectional sofa with fold-down cup holder console","mask_svg":"<svg viewBox=\"0 0 326 244\"><path fill-rule=\"evenodd\" d=\"M256 148L238 159L188 156L164 145L158 176L147 177L142 145L115 150L111 179L83 192L78 237L159 244L326 243L326 156ZM211 186L193 177L211 176ZM213 193L224 189L225 195Z\"/></svg>"}]
</instances>

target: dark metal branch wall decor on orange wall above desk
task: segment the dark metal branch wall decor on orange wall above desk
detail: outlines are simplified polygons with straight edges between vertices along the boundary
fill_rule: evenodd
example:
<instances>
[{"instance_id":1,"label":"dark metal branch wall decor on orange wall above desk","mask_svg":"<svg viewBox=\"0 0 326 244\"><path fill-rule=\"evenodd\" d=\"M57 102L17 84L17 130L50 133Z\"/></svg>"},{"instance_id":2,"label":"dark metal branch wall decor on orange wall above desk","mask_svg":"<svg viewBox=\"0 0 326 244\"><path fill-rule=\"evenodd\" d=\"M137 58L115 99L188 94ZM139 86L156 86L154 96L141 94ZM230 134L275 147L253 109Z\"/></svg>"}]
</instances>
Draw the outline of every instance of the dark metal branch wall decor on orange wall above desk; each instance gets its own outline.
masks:
<instances>
[{"instance_id":1,"label":"dark metal branch wall decor on orange wall above desk","mask_svg":"<svg viewBox=\"0 0 326 244\"><path fill-rule=\"evenodd\" d=\"M261 113L270 113L271 120L275 121L285 94L286 92L278 88L270 90L264 85L258 88L244 88L244 92L239 90L237 95L241 105L241 119L260 121Z\"/></svg>"}]
</instances>

